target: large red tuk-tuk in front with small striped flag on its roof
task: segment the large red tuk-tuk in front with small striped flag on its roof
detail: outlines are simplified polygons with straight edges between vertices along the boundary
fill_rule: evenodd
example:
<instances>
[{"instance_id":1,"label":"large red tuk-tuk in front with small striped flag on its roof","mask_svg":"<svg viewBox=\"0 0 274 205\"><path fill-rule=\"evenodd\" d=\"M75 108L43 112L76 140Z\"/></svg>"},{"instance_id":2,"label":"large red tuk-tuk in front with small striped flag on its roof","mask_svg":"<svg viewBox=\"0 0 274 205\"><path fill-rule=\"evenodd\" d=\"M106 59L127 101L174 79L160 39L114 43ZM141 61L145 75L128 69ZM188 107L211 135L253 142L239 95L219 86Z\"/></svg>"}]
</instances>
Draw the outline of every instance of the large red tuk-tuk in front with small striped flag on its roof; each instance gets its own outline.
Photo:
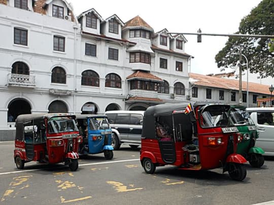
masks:
<instances>
[{"instance_id":1,"label":"large red tuk-tuk in front with small striped flag on its roof","mask_svg":"<svg viewBox=\"0 0 274 205\"><path fill-rule=\"evenodd\" d=\"M229 126L228 110L229 105L209 102L149 107L144 114L140 153L145 172L152 174L164 165L182 170L222 167L232 179L244 180L247 170L242 164L247 160L235 153L242 138L235 126Z\"/></svg>"}]
</instances>

